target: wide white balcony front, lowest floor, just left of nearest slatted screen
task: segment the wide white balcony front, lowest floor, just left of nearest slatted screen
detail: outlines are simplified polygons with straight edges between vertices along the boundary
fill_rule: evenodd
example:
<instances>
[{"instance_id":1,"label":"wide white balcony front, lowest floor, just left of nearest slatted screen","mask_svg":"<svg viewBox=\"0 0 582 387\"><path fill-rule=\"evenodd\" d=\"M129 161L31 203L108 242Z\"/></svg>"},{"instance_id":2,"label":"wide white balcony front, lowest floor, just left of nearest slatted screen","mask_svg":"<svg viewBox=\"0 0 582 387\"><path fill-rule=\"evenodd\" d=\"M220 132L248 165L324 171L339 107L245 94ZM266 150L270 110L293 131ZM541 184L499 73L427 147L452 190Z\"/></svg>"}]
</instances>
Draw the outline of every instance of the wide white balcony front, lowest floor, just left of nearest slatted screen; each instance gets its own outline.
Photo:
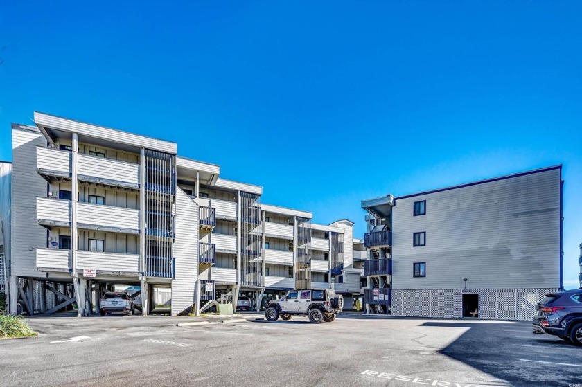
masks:
<instances>
[{"instance_id":1,"label":"wide white balcony front, lowest floor, just left of nearest slatted screen","mask_svg":"<svg viewBox=\"0 0 582 387\"><path fill-rule=\"evenodd\" d=\"M139 276L139 255L78 250L77 269L96 270L102 276Z\"/></svg>"}]
</instances>

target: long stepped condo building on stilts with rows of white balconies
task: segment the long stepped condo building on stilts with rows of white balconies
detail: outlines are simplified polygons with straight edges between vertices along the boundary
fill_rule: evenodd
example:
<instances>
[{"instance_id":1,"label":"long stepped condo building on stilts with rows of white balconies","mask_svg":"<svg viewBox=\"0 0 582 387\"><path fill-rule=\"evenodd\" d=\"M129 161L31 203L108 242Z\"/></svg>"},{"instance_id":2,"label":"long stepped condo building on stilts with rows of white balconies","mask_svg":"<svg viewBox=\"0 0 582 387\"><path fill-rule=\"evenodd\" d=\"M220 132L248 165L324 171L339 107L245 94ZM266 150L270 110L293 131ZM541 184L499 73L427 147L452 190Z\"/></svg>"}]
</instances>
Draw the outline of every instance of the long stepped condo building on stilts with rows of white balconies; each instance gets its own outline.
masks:
<instances>
[{"instance_id":1,"label":"long stepped condo building on stilts with rows of white balconies","mask_svg":"<svg viewBox=\"0 0 582 387\"><path fill-rule=\"evenodd\" d=\"M177 156L176 143L34 120L12 125L12 311L91 312L112 285L140 289L143 314L157 287L171 289L172 314L241 294L258 308L294 288L358 297L352 222L312 224L309 212L261 204L263 188Z\"/></svg>"}]
</instances>

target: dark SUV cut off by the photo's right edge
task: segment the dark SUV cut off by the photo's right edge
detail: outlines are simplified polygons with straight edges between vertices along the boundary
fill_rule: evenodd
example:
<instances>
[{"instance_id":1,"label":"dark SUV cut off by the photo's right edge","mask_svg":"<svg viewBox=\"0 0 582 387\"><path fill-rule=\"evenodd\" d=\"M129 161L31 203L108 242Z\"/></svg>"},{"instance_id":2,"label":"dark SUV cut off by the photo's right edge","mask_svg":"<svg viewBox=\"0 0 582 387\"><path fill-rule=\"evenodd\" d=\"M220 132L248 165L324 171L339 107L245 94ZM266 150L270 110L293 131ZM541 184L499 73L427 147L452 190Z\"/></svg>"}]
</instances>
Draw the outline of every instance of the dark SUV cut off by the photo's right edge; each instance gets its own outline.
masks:
<instances>
[{"instance_id":1,"label":"dark SUV cut off by the photo's right edge","mask_svg":"<svg viewBox=\"0 0 582 387\"><path fill-rule=\"evenodd\" d=\"M582 288L546 294L536 305L533 333L547 333L582 345Z\"/></svg>"}]
</instances>

